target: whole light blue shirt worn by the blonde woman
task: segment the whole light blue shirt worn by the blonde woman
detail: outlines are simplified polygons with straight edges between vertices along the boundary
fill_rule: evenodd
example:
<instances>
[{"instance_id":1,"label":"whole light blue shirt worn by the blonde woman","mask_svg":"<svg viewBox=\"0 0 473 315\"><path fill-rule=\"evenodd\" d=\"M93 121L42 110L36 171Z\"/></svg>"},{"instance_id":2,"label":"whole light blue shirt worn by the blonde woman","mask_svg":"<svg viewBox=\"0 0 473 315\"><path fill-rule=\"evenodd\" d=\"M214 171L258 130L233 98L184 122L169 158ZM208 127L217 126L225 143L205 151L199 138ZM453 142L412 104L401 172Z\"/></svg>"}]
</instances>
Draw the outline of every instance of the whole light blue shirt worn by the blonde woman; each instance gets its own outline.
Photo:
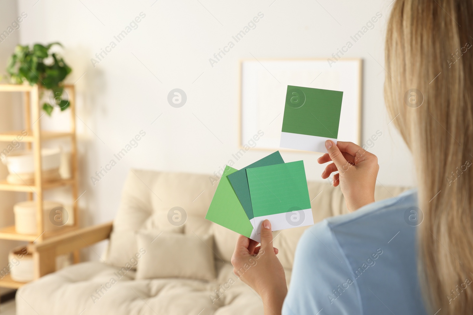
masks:
<instances>
[{"instance_id":1,"label":"whole light blue shirt worn by the blonde woman","mask_svg":"<svg viewBox=\"0 0 473 315\"><path fill-rule=\"evenodd\" d=\"M424 315L417 192L319 222L300 238L283 315Z\"/></svg>"}]
</instances>

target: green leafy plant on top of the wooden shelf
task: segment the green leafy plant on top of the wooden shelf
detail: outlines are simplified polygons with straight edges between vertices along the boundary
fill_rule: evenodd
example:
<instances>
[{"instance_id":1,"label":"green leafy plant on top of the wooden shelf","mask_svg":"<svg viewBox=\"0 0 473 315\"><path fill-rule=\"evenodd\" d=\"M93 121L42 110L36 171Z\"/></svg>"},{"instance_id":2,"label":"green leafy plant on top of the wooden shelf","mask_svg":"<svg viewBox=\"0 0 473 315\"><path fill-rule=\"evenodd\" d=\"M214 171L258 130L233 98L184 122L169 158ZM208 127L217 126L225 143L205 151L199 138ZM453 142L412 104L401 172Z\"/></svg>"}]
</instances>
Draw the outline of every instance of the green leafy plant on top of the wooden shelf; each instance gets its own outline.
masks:
<instances>
[{"instance_id":1,"label":"green leafy plant on top of the wooden shelf","mask_svg":"<svg viewBox=\"0 0 473 315\"><path fill-rule=\"evenodd\" d=\"M7 66L12 83L22 84L26 81L30 85L39 85L40 98L45 91L51 91L49 102L43 104L43 110L49 116L54 107L59 107L61 111L69 107L69 100L62 98L62 82L70 74L71 68L61 56L51 51L54 45L62 47L60 43L50 43L46 46L34 44L32 48L28 45L17 45Z\"/></svg>"}]
</instances>

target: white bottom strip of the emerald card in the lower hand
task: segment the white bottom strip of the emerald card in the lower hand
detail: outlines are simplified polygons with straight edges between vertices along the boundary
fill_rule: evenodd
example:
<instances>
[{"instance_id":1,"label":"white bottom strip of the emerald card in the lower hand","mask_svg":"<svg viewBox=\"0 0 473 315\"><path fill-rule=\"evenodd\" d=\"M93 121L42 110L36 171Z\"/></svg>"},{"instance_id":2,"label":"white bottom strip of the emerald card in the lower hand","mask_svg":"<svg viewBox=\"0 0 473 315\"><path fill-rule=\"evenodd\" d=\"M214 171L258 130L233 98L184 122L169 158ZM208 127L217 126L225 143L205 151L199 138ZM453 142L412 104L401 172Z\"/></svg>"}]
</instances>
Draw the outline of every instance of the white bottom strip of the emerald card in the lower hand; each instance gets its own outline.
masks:
<instances>
[{"instance_id":1,"label":"white bottom strip of the emerald card in the lower hand","mask_svg":"<svg viewBox=\"0 0 473 315\"><path fill-rule=\"evenodd\" d=\"M271 222L272 231L298 228L300 226L314 224L314 218L312 217L312 209L304 209L292 212L263 215L261 217L254 217L253 220L250 220L252 221L252 224L254 224L253 232L256 230L256 233L258 235L261 234L261 224L266 219Z\"/></svg>"}]
</instances>

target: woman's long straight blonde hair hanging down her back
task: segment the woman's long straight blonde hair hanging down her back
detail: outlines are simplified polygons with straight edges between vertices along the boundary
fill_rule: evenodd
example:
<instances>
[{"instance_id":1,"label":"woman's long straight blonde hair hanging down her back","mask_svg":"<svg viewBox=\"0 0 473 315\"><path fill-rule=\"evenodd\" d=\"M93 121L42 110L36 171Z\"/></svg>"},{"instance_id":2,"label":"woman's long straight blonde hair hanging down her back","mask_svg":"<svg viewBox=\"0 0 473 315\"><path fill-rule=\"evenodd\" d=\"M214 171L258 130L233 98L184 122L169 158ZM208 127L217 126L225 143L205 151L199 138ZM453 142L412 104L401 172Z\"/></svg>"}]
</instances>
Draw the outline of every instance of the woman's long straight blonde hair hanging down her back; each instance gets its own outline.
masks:
<instances>
[{"instance_id":1,"label":"woman's long straight blonde hair hanging down her back","mask_svg":"<svg viewBox=\"0 0 473 315\"><path fill-rule=\"evenodd\" d=\"M396 0L386 34L385 102L414 158L418 270L437 315L473 313L470 35L472 0Z\"/></svg>"}]
</instances>

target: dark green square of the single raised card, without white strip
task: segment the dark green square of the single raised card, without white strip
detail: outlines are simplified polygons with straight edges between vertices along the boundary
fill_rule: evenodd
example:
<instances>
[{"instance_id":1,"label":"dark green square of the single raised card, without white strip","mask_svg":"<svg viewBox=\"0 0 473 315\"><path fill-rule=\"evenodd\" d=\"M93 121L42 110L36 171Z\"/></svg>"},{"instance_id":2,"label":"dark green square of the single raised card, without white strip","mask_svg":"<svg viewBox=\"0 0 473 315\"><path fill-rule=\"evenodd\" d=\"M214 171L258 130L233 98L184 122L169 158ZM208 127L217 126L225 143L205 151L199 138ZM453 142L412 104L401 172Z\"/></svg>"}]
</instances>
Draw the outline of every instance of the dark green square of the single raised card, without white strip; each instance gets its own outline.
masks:
<instances>
[{"instance_id":1,"label":"dark green square of the single raised card, without white strip","mask_svg":"<svg viewBox=\"0 0 473 315\"><path fill-rule=\"evenodd\" d=\"M282 132L337 138L343 92L288 85Z\"/></svg>"}]
</instances>

